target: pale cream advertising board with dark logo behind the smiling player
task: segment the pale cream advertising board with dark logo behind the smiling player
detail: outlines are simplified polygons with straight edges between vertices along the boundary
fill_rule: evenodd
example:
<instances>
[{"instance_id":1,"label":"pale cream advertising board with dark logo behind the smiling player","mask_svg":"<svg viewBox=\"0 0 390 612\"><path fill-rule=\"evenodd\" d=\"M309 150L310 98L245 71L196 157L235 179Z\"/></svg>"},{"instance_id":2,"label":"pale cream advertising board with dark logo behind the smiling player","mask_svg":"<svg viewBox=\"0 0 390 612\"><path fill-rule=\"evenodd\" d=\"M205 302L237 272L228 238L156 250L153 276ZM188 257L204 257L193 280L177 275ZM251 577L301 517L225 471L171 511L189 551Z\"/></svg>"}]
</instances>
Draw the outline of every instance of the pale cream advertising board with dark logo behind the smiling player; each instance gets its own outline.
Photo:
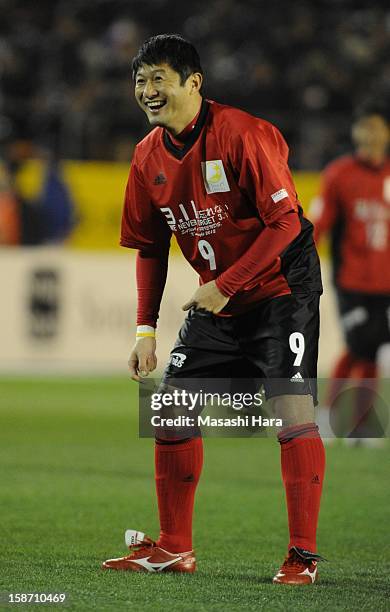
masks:
<instances>
[{"instance_id":1,"label":"pale cream advertising board with dark logo behind the smiling player","mask_svg":"<svg viewBox=\"0 0 390 612\"><path fill-rule=\"evenodd\" d=\"M324 267L327 282L327 267ZM122 372L134 342L135 255L43 248L0 251L0 373ZM158 325L162 368L197 278L181 256L170 260ZM332 291L322 299L319 370L340 350Z\"/></svg>"}]
</instances>

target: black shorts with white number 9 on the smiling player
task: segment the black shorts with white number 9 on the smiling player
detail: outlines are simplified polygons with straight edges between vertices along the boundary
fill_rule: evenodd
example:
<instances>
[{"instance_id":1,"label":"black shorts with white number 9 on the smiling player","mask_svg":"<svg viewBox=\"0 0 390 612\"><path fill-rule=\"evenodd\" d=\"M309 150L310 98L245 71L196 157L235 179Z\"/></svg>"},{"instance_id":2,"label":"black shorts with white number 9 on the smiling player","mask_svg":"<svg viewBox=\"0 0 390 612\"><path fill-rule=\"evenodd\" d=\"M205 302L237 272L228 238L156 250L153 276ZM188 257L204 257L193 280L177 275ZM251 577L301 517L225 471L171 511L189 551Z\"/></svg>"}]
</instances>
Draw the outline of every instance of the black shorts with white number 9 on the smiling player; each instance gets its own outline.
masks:
<instances>
[{"instance_id":1,"label":"black shorts with white number 9 on the smiling player","mask_svg":"<svg viewBox=\"0 0 390 612\"><path fill-rule=\"evenodd\" d=\"M234 317L192 308L163 383L261 379L266 398L312 395L317 403L319 293L270 298Z\"/></svg>"}]
</instances>

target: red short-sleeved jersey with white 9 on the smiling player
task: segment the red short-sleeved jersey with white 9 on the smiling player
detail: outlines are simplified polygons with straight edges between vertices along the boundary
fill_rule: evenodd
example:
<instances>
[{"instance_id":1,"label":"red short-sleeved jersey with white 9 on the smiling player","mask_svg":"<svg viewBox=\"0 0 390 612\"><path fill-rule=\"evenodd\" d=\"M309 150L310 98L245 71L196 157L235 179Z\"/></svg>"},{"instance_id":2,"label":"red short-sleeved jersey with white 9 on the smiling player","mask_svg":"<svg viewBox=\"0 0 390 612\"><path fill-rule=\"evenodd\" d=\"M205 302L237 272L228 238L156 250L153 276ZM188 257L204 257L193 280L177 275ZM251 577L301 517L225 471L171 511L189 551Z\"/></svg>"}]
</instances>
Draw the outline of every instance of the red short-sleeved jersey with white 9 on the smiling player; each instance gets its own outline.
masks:
<instances>
[{"instance_id":1,"label":"red short-sleeved jersey with white 9 on the smiling player","mask_svg":"<svg viewBox=\"0 0 390 612\"><path fill-rule=\"evenodd\" d=\"M311 224L302 217L279 131L241 110L204 101L184 147L155 128L136 147L126 189L121 244L164 247L173 232L202 283L216 279L287 211L301 233L229 301L244 304L296 291L321 291Z\"/></svg>"}]
</instances>

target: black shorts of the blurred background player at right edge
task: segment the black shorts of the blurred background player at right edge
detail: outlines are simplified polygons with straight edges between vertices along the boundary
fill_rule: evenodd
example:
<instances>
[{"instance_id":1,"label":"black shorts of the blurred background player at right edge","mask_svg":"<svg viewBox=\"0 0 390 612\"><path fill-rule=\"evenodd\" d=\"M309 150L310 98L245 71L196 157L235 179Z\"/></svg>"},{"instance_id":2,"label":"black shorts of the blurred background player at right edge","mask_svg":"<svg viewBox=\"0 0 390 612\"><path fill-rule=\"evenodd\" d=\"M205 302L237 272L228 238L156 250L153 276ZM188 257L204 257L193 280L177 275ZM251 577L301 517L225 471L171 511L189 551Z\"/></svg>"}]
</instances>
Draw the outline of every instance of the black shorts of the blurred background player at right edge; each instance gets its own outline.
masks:
<instances>
[{"instance_id":1,"label":"black shorts of the blurred background player at right edge","mask_svg":"<svg viewBox=\"0 0 390 612\"><path fill-rule=\"evenodd\" d=\"M338 289L337 300L348 350L375 361L379 347L390 342L390 296Z\"/></svg>"}]
</instances>

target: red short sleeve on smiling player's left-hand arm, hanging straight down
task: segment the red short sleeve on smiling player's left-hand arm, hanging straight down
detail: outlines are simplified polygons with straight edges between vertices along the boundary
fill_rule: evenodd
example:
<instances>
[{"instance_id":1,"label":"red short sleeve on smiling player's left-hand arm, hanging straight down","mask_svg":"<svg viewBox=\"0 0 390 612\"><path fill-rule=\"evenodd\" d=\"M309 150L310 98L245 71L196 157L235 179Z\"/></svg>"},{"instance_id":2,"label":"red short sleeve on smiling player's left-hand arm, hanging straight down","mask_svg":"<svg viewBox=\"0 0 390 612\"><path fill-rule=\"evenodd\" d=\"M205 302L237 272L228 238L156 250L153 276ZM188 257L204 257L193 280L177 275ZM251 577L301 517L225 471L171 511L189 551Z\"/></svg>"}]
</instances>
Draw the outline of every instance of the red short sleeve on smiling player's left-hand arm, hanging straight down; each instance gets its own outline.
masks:
<instances>
[{"instance_id":1,"label":"red short sleeve on smiling player's left-hand arm, hanging straight down","mask_svg":"<svg viewBox=\"0 0 390 612\"><path fill-rule=\"evenodd\" d=\"M171 230L153 206L133 161L126 186L122 214L121 246L141 251L169 244Z\"/></svg>"}]
</instances>

